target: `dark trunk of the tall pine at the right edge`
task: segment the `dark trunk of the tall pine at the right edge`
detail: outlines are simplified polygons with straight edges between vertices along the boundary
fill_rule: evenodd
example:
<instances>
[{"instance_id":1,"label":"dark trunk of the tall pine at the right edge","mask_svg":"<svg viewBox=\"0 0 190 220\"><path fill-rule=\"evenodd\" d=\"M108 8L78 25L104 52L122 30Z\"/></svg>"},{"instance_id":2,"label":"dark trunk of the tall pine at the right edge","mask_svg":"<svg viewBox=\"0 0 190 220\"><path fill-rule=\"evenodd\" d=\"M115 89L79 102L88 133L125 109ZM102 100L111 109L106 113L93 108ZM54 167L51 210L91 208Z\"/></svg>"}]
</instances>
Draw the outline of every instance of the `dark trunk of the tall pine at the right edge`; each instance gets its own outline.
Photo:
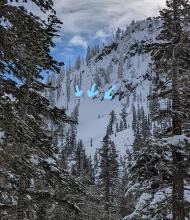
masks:
<instances>
[{"instance_id":1,"label":"dark trunk of the tall pine at the right edge","mask_svg":"<svg viewBox=\"0 0 190 220\"><path fill-rule=\"evenodd\" d=\"M175 46L176 47L176 46ZM173 136L182 134L182 121L178 115L180 107L180 96L178 89L178 66L175 58L175 49L173 48L173 77L172 77L172 130ZM184 174L183 174L183 156L179 152L180 146L172 146L173 157L173 190L172 190L172 212L173 220L185 220L184 207Z\"/></svg>"}]
</instances>

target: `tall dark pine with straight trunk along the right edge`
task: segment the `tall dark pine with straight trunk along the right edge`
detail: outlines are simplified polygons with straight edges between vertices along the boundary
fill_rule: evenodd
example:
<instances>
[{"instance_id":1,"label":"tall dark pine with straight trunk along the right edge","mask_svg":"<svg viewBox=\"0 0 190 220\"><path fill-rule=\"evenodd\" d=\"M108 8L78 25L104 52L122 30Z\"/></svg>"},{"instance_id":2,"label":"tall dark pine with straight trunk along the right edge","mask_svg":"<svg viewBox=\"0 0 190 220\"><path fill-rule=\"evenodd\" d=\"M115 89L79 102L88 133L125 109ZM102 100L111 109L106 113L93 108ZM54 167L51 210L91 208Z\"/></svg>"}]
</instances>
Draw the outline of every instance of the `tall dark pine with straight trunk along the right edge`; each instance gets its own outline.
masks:
<instances>
[{"instance_id":1,"label":"tall dark pine with straight trunk along the right edge","mask_svg":"<svg viewBox=\"0 0 190 220\"><path fill-rule=\"evenodd\" d=\"M189 119L189 98L186 94L189 93L190 82L190 39L187 30L190 3L186 0L171 0L166 1L166 5L167 8L160 12L163 27L159 39L162 43L152 46L154 70L161 75L153 98L171 100L171 109L159 110L157 118L171 119L171 137L175 139L183 134L183 125ZM169 145L173 156L172 214L174 220L183 220L185 219L184 163L188 152L182 143Z\"/></svg>"}]
</instances>

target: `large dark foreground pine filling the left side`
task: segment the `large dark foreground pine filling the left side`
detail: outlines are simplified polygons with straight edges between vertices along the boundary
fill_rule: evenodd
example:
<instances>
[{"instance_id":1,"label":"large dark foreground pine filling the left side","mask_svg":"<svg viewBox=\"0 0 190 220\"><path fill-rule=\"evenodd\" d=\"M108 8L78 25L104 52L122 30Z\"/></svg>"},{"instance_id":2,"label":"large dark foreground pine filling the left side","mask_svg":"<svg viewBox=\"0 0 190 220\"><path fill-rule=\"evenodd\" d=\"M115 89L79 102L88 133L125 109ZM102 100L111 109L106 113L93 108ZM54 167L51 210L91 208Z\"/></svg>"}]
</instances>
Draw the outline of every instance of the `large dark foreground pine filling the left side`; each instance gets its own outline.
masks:
<instances>
[{"instance_id":1,"label":"large dark foreground pine filling the left side","mask_svg":"<svg viewBox=\"0 0 190 220\"><path fill-rule=\"evenodd\" d=\"M33 3L47 12L47 22L24 7L0 2L0 20L3 17L12 24L9 28L0 25L0 200L6 219L39 219L47 207L56 204L76 210L71 201L57 199L55 186L68 190L65 194L80 188L58 167L58 149L48 126L48 121L73 122L64 109L51 106L42 95L45 88L54 89L41 82L42 71L58 72L61 66L50 55L52 38L61 22L52 1Z\"/></svg>"}]
</instances>

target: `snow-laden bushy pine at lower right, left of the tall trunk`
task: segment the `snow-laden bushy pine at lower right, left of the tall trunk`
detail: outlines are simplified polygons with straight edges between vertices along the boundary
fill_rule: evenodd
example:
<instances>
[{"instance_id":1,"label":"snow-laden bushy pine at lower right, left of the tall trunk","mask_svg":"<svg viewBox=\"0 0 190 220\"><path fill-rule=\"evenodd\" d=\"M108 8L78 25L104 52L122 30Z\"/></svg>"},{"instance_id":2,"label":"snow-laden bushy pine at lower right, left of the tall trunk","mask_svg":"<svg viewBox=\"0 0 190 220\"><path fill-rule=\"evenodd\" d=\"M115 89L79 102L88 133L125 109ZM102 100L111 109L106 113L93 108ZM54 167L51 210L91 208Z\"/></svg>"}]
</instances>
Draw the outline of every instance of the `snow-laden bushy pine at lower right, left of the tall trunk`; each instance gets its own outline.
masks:
<instances>
[{"instance_id":1,"label":"snow-laden bushy pine at lower right, left of the tall trunk","mask_svg":"<svg viewBox=\"0 0 190 220\"><path fill-rule=\"evenodd\" d=\"M143 139L142 133L140 135ZM162 148L152 138L139 144L134 146L127 165L129 174L125 196L129 200L130 213L125 219L170 219L171 195L168 186L172 175L169 147Z\"/></svg>"}]
</instances>

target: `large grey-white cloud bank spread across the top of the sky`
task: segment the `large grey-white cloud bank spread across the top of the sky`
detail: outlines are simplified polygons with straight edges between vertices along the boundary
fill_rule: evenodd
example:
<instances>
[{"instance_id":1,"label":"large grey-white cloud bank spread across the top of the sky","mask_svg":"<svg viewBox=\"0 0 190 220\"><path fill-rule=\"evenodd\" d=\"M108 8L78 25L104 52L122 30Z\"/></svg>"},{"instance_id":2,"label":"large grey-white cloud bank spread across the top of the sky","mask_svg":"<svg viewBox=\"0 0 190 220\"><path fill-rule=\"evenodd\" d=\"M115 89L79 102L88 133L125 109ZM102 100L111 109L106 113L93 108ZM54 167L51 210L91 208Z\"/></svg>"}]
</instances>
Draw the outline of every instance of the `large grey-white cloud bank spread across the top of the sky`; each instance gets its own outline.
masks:
<instances>
[{"instance_id":1,"label":"large grey-white cloud bank spread across the top of the sky","mask_svg":"<svg viewBox=\"0 0 190 220\"><path fill-rule=\"evenodd\" d=\"M111 33L133 19L157 16L164 4L165 0L55 0L55 9L66 33L92 37L101 29Z\"/></svg>"}]
</instances>

